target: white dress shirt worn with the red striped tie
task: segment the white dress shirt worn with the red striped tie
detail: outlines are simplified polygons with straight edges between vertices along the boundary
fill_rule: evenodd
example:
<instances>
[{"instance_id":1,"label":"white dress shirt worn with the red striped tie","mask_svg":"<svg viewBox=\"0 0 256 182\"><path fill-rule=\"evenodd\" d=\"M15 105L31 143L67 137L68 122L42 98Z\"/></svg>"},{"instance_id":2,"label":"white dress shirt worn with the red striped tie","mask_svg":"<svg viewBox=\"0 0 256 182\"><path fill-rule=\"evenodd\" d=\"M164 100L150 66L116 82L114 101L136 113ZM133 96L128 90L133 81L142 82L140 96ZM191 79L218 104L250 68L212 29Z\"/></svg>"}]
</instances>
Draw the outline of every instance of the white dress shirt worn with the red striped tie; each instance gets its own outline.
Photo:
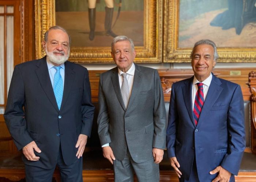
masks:
<instances>
[{"instance_id":1,"label":"white dress shirt worn with the red striped tie","mask_svg":"<svg viewBox=\"0 0 256 182\"><path fill-rule=\"evenodd\" d=\"M210 76L203 80L203 90L204 90L204 100L206 98L206 95L207 95L207 92L208 92L208 89L210 87L210 84L211 84L211 80L212 80L212 74L210 74ZM198 87L197 87L197 83L200 83L196 77L194 76L194 79L193 79L193 87L192 87L192 104L193 104L193 109L194 109L194 104L195 104L195 97L196 97L196 92L198 90Z\"/></svg>"}]
</instances>

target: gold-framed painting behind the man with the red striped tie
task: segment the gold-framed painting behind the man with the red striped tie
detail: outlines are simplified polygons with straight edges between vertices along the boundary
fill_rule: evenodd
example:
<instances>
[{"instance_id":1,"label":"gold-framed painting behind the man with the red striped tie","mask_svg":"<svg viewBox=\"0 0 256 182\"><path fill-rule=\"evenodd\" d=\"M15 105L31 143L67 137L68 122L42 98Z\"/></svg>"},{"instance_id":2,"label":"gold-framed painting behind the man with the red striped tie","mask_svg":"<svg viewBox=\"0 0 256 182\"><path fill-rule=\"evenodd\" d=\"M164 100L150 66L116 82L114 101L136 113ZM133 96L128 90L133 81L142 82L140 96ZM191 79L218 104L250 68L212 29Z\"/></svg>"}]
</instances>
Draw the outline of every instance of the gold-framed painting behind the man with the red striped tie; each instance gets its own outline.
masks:
<instances>
[{"instance_id":1,"label":"gold-framed painting behind the man with the red striped tie","mask_svg":"<svg viewBox=\"0 0 256 182\"><path fill-rule=\"evenodd\" d=\"M193 44L210 39L218 62L256 62L256 0L165 0L163 62L190 62Z\"/></svg>"}]
</instances>

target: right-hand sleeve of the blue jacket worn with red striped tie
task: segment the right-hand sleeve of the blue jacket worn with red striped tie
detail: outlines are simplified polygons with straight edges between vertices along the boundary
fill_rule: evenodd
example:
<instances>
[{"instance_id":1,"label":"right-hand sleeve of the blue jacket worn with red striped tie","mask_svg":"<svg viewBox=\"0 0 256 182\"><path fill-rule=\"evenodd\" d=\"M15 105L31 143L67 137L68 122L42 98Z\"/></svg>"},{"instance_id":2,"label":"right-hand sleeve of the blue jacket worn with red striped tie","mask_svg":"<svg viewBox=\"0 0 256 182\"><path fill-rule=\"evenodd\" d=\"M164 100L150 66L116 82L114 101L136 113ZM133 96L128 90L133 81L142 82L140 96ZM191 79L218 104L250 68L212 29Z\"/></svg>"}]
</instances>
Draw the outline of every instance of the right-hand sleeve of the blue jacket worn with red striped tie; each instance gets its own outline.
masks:
<instances>
[{"instance_id":1,"label":"right-hand sleeve of the blue jacket worn with red striped tie","mask_svg":"<svg viewBox=\"0 0 256 182\"><path fill-rule=\"evenodd\" d=\"M235 88L229 104L227 124L229 146L221 166L230 173L237 175L245 149L244 100L239 85Z\"/></svg>"}]
</instances>

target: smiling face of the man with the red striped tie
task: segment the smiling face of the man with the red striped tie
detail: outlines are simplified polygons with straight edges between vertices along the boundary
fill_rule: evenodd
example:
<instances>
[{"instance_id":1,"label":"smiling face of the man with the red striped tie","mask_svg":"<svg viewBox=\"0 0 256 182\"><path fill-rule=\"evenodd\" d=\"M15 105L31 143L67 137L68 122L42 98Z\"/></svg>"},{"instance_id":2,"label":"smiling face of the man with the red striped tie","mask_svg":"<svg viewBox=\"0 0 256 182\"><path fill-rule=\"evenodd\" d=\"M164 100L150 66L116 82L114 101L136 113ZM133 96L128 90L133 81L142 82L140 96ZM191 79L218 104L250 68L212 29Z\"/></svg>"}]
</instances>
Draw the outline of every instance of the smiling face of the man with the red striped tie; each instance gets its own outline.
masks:
<instances>
[{"instance_id":1,"label":"smiling face of the man with the red striped tie","mask_svg":"<svg viewBox=\"0 0 256 182\"><path fill-rule=\"evenodd\" d=\"M215 66L214 48L208 44L200 44L195 47L192 60L192 68L196 79L203 82L210 76L212 68Z\"/></svg>"}]
</instances>

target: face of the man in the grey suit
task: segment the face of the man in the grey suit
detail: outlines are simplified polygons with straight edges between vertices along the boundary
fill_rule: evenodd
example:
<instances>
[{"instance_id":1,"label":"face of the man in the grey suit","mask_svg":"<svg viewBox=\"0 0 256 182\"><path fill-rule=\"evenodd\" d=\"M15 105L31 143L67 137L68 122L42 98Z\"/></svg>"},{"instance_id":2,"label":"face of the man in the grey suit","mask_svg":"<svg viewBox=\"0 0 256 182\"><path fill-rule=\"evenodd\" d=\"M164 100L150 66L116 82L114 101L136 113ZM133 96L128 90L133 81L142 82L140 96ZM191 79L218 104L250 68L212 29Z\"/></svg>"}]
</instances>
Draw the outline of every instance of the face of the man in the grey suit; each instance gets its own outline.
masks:
<instances>
[{"instance_id":1,"label":"face of the man in the grey suit","mask_svg":"<svg viewBox=\"0 0 256 182\"><path fill-rule=\"evenodd\" d=\"M111 55L117 67L123 72L127 72L132 66L136 51L132 51L131 43L128 40L123 40L114 44Z\"/></svg>"}]
</instances>

